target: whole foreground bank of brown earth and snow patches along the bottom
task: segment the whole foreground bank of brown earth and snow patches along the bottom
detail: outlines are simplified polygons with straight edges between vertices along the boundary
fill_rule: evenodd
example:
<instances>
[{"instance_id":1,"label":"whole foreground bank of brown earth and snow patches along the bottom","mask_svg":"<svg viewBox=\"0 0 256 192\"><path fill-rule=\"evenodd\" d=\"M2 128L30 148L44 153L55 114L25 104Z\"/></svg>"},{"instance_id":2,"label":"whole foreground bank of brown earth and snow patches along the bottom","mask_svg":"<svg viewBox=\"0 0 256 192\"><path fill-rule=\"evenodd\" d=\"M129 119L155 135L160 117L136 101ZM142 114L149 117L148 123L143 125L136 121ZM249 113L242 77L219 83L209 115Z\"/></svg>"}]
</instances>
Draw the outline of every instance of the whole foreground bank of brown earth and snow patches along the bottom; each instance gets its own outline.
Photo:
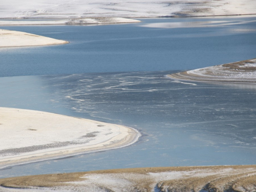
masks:
<instances>
[{"instance_id":1,"label":"whole foreground bank of brown earth and snow patches along the bottom","mask_svg":"<svg viewBox=\"0 0 256 192\"><path fill-rule=\"evenodd\" d=\"M255 191L256 165L147 167L0 179L0 191Z\"/></svg>"}]
</instances>

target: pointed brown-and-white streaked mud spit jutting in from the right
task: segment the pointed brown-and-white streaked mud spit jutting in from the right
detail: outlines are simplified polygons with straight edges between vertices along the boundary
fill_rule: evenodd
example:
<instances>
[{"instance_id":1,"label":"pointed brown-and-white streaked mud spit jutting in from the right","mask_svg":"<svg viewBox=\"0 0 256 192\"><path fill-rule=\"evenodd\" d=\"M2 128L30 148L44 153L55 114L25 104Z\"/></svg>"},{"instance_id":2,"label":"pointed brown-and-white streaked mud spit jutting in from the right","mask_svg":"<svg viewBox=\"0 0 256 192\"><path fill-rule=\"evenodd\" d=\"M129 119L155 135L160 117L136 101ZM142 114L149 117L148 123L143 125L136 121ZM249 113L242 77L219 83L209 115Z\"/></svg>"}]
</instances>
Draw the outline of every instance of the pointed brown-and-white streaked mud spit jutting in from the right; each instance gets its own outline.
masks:
<instances>
[{"instance_id":1,"label":"pointed brown-and-white streaked mud spit jutting in from the right","mask_svg":"<svg viewBox=\"0 0 256 192\"><path fill-rule=\"evenodd\" d=\"M169 74L173 79L217 82L256 82L256 58Z\"/></svg>"}]
</instances>

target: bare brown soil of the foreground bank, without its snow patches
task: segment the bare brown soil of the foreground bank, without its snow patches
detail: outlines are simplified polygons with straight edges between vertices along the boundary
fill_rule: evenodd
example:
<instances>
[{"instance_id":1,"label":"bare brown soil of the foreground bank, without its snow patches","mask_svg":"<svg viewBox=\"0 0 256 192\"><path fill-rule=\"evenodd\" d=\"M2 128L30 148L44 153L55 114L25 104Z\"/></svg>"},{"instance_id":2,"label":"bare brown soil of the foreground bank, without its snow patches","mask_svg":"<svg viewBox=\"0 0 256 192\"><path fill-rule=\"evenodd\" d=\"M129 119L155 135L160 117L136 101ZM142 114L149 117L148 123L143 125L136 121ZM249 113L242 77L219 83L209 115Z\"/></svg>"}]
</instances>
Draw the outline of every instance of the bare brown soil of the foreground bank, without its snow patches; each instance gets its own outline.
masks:
<instances>
[{"instance_id":1,"label":"bare brown soil of the foreground bank, without its snow patches","mask_svg":"<svg viewBox=\"0 0 256 192\"><path fill-rule=\"evenodd\" d=\"M226 170L232 170L227 172ZM157 181L151 178L149 173L163 172L190 172L211 173L204 175L185 175L181 178ZM194 172L193 172L194 173ZM24 176L17 178L0 179L0 185L4 187L26 188L26 187L56 187L71 186L71 181L82 181L85 176L99 174L105 178L115 176L126 179L133 183L132 191L153 191L152 186L157 186L162 191L256 191L256 165L237 166L191 166L191 167L147 167L98 170L81 173L50 174L37 176ZM133 178L127 179L125 175L135 174ZM87 185L83 185L86 190ZM104 186L100 186L104 188ZM109 188L106 188L109 190ZM130 191L131 191L130 190Z\"/></svg>"}]
</instances>

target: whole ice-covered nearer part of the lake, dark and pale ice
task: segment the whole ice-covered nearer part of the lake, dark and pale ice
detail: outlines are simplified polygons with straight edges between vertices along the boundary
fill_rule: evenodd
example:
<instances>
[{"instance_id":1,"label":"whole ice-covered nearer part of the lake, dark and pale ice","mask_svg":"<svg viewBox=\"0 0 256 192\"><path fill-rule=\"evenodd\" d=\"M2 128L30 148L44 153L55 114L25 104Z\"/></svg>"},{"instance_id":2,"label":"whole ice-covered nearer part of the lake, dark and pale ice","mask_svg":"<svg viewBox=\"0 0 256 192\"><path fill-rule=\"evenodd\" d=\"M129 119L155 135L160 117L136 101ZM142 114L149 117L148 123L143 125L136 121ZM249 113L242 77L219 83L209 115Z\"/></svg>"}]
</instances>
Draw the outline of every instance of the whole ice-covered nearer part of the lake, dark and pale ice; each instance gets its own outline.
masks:
<instances>
[{"instance_id":1,"label":"whole ice-covered nearer part of the lake, dark and pale ice","mask_svg":"<svg viewBox=\"0 0 256 192\"><path fill-rule=\"evenodd\" d=\"M168 73L172 72L35 76L34 89L24 90L27 97L7 98L18 87L22 92L31 84L30 77L22 83L25 77L9 78L12 87L0 87L6 93L1 96L5 106L18 108L34 98L26 108L119 123L144 136L129 147L14 166L0 174L254 164L255 86L174 81L164 76Z\"/></svg>"}]
</instances>

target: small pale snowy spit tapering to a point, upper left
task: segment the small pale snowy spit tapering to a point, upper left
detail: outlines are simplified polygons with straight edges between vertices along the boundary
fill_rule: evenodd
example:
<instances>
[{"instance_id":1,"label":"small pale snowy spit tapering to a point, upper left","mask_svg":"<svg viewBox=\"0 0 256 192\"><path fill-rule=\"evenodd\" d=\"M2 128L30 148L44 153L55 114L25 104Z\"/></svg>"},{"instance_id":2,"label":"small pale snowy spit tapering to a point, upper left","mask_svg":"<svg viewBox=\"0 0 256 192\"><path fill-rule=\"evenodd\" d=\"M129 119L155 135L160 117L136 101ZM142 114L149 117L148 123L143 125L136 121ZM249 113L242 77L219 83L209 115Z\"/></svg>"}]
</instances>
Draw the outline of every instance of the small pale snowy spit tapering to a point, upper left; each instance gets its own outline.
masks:
<instances>
[{"instance_id":1,"label":"small pale snowy spit tapering to a point, upper left","mask_svg":"<svg viewBox=\"0 0 256 192\"><path fill-rule=\"evenodd\" d=\"M40 35L0 29L1 47L45 46L67 44L68 41L44 37Z\"/></svg>"}]
</instances>

